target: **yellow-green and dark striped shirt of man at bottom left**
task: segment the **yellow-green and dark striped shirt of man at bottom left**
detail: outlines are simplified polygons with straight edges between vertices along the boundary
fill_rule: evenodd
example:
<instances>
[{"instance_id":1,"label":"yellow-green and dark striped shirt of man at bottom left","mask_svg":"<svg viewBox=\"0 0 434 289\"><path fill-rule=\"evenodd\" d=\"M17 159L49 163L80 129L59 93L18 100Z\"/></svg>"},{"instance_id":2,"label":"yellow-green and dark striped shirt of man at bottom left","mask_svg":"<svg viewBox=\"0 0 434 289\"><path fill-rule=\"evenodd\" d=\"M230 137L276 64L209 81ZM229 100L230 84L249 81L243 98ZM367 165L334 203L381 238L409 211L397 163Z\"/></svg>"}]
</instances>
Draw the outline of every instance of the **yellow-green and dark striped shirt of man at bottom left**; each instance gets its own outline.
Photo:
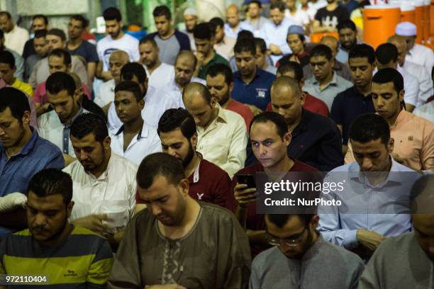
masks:
<instances>
[{"instance_id":1,"label":"yellow-green and dark striped shirt of man at bottom left","mask_svg":"<svg viewBox=\"0 0 434 289\"><path fill-rule=\"evenodd\" d=\"M45 276L45 283L31 283L38 288L106 288L112 264L109 242L83 227L74 227L65 242L57 246L39 244L28 229L0 243L0 274Z\"/></svg>"}]
</instances>

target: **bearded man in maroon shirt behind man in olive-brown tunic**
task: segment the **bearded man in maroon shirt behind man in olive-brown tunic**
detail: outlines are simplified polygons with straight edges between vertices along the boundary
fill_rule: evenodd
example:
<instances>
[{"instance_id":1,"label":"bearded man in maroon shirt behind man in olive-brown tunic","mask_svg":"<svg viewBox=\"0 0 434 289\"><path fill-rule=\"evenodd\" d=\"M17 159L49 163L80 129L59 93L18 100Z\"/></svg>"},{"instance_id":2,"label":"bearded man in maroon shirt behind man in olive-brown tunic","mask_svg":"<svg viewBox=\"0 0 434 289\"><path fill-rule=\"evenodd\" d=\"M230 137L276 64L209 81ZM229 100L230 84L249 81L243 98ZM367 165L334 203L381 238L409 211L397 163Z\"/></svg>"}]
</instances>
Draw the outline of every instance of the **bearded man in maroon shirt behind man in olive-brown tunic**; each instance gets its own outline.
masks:
<instances>
[{"instance_id":1,"label":"bearded man in maroon shirt behind man in olive-brown tunic","mask_svg":"<svg viewBox=\"0 0 434 289\"><path fill-rule=\"evenodd\" d=\"M157 128L162 151L182 162L189 179L189 195L194 200L228 208L230 179L226 171L208 162L196 152L197 130L194 118L183 108L168 109L160 118ZM136 212L145 208L140 196L136 199Z\"/></svg>"}]
</instances>

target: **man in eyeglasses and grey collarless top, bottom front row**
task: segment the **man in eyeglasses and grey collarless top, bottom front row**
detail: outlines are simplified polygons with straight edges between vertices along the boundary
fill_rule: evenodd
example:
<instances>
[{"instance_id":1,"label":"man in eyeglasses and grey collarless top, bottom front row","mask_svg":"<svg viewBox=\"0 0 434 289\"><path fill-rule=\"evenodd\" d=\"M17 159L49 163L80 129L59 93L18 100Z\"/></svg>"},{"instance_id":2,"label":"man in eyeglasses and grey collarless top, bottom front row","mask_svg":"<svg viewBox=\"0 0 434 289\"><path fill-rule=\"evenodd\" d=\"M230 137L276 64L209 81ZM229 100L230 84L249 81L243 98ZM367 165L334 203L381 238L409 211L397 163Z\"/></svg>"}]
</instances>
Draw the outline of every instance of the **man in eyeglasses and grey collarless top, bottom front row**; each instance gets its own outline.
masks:
<instances>
[{"instance_id":1,"label":"man in eyeglasses and grey collarless top, bottom front row","mask_svg":"<svg viewBox=\"0 0 434 289\"><path fill-rule=\"evenodd\" d=\"M253 261L249 288L355 288L362 259L326 242L316 231L318 220L311 214L265 215L273 247Z\"/></svg>"}]
</instances>

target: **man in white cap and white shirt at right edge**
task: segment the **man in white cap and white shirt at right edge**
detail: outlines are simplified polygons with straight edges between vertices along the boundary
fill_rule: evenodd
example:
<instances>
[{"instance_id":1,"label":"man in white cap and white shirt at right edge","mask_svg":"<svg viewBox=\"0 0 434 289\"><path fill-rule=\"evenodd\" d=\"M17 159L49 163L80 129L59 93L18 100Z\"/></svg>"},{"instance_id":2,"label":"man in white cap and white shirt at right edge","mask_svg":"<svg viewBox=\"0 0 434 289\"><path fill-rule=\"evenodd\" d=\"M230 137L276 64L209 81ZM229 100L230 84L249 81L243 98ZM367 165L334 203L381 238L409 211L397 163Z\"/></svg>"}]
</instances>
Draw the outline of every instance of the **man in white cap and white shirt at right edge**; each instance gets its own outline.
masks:
<instances>
[{"instance_id":1,"label":"man in white cap and white shirt at right edge","mask_svg":"<svg viewBox=\"0 0 434 289\"><path fill-rule=\"evenodd\" d=\"M406 40L406 60L424 66L428 73L434 66L434 53L430 48L415 43L417 30L411 22L401 22L395 28L395 34Z\"/></svg>"}]
</instances>

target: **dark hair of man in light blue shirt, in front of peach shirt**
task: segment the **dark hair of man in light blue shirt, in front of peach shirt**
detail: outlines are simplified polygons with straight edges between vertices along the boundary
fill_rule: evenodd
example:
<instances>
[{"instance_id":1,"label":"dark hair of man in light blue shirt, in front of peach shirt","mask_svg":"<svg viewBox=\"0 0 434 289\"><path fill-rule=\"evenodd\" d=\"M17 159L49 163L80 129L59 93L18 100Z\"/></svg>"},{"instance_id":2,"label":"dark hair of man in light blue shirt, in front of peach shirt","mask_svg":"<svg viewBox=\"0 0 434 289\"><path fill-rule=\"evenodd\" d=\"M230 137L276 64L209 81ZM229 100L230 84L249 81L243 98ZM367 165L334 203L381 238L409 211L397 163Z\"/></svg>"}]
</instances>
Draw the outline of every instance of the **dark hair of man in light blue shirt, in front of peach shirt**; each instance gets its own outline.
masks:
<instances>
[{"instance_id":1,"label":"dark hair of man in light blue shirt, in front of peach shirt","mask_svg":"<svg viewBox=\"0 0 434 289\"><path fill-rule=\"evenodd\" d=\"M349 137L350 141L361 143L381 139L382 144L387 146L390 140L389 124L380 115L365 113L352 120Z\"/></svg>"}]
</instances>

